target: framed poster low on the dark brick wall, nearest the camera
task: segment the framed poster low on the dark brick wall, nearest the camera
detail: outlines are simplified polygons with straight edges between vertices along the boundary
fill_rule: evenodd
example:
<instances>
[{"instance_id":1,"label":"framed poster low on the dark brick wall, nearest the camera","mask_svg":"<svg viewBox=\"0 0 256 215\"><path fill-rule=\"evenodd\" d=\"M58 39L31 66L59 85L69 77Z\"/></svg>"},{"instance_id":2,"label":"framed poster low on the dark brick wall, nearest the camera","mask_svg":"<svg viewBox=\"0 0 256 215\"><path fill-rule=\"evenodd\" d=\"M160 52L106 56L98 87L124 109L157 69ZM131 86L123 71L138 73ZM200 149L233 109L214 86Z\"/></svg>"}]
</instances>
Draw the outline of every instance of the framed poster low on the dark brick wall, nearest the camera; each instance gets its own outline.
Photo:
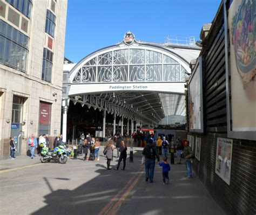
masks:
<instances>
[{"instance_id":1,"label":"framed poster low on the dark brick wall, nearest the camera","mask_svg":"<svg viewBox=\"0 0 256 215\"><path fill-rule=\"evenodd\" d=\"M215 173L230 185L232 140L218 138Z\"/></svg>"}]
</instances>

